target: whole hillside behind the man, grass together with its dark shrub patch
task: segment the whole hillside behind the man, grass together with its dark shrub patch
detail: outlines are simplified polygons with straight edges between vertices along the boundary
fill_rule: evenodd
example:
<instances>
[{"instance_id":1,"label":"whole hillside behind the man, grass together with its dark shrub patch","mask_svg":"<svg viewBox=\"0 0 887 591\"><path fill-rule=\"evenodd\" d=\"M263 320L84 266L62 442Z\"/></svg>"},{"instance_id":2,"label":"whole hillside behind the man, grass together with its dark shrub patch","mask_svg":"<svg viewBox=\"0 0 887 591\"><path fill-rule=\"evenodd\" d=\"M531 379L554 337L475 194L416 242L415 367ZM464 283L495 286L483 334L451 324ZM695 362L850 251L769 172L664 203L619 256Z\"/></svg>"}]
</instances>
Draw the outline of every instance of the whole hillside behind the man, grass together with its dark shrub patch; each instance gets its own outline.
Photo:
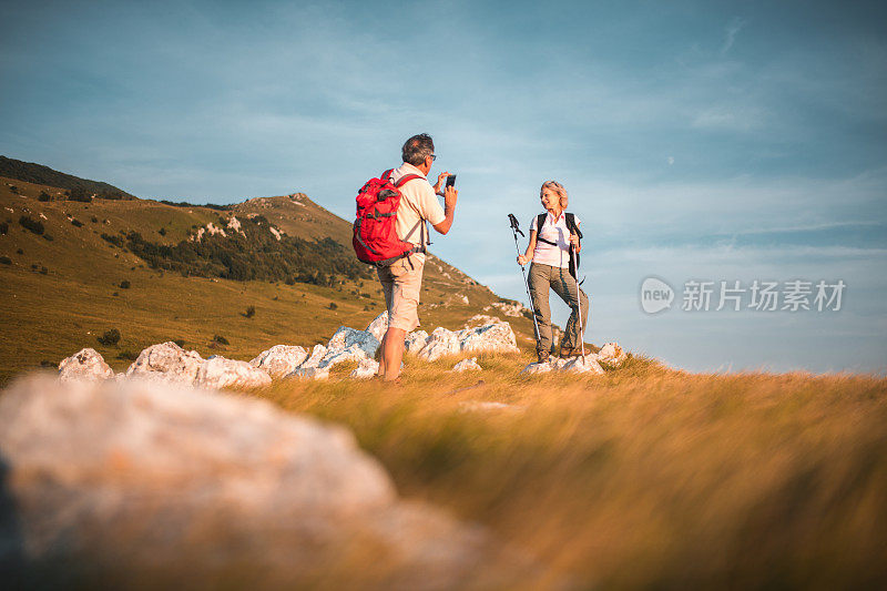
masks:
<instances>
[{"instance_id":1,"label":"whole hillside behind the man, grass together with its dark shrub patch","mask_svg":"<svg viewBox=\"0 0 887 591\"><path fill-rule=\"evenodd\" d=\"M41 193L60 192L0 177L2 383L41 365L54 367L86 346L115 370L125 369L144 347L164 340L184 342L204 356L251 359L273 345L326 343L340 325L363 327L385 308L375 274L351 257L350 222L307 196L254 198L225 210L151 200L41 201ZM22 218L42 232L29 230ZM233 218L244 235L227 227ZM208 224L224 228L226 236L211 235ZM136 235L139 241L131 240ZM326 238L334 244L326 243L325 256L333 253L336 264L323 265L323 281L299 274L318 271L320 263L299 258L294 245L310 255L305 248ZM207 268L183 268L173 254L151 256L166 251L203 253L192 262ZM232 253L245 257L241 262L246 268L265 266L259 279L226 278L237 277L225 271L238 261ZM420 315L428 329L457 328L500 299L435 256L426 265L424 289ZM530 320L508 320L519 340L528 343ZM120 342L100 344L98 338L114 328Z\"/></svg>"}]
</instances>

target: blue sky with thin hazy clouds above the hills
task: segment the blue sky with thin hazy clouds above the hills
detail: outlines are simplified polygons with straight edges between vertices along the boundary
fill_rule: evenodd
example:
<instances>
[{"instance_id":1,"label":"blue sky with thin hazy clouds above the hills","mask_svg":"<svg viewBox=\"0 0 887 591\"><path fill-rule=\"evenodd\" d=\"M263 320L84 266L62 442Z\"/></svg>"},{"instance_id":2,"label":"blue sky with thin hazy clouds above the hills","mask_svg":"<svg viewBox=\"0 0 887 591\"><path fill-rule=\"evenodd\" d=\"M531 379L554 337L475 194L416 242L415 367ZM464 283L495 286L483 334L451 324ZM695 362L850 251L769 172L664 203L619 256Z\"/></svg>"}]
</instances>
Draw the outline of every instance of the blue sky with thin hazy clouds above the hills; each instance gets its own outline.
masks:
<instances>
[{"instance_id":1,"label":"blue sky with thin hazy clouds above the hills","mask_svg":"<svg viewBox=\"0 0 887 591\"><path fill-rule=\"evenodd\" d=\"M0 153L142 197L304 191L349 218L425 131L459 175L436 253L497 293L526 300L506 215L529 225L557 179L592 342L883 370L885 23L877 2L7 2ZM651 316L649 275L679 300L691 278L847 288L840 312Z\"/></svg>"}]
</instances>

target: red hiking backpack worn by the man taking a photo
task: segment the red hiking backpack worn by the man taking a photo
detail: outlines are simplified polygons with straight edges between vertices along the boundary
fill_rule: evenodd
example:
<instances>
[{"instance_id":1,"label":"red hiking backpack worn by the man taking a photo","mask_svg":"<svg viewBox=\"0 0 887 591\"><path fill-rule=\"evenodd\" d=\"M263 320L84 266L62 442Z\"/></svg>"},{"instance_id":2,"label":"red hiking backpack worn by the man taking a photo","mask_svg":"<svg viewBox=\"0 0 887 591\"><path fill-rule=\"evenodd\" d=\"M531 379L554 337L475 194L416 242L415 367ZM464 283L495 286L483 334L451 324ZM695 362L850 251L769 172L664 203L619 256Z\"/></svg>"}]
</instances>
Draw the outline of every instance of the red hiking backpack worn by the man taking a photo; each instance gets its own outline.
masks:
<instances>
[{"instance_id":1,"label":"red hiking backpack worn by the man taking a photo","mask_svg":"<svg viewBox=\"0 0 887 591\"><path fill-rule=\"evenodd\" d=\"M401 241L395 228L397 208L400 207L400 187L408 181L421 179L407 174L391 183L391 172L385 171L378 179L370 179L357 193L357 220L354 222L354 252L364 263L388 266L399 258L425 248ZM425 224L422 224L422 227Z\"/></svg>"}]
</instances>

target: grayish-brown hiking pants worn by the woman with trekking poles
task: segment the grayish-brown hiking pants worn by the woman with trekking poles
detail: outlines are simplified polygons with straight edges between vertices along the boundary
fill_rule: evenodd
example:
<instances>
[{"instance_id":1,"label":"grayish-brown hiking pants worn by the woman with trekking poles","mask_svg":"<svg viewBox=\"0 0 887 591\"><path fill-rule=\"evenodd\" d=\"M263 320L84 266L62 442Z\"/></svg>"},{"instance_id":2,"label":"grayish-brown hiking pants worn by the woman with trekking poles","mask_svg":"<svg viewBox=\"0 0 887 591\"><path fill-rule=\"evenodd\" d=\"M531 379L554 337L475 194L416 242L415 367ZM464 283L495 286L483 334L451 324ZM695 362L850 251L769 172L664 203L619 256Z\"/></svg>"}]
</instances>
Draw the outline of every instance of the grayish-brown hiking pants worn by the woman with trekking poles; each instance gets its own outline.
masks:
<instances>
[{"instance_id":1,"label":"grayish-brown hiking pants worn by the woman with trekking poles","mask_svg":"<svg viewBox=\"0 0 887 591\"><path fill-rule=\"evenodd\" d=\"M570 306L572 314L567 320L567 327L561 338L561 348L579 348L581 336L579 334L579 300L577 298L575 279L570 272L561 267L551 265L530 265L530 297L533 298L533 309L536 322L539 325L539 342L536 344L538 351L551 350L551 308L548 303L548 289L551 287L561 299ZM589 319L589 298L582 289L579 289L582 298L582 327L588 327Z\"/></svg>"}]
</instances>

